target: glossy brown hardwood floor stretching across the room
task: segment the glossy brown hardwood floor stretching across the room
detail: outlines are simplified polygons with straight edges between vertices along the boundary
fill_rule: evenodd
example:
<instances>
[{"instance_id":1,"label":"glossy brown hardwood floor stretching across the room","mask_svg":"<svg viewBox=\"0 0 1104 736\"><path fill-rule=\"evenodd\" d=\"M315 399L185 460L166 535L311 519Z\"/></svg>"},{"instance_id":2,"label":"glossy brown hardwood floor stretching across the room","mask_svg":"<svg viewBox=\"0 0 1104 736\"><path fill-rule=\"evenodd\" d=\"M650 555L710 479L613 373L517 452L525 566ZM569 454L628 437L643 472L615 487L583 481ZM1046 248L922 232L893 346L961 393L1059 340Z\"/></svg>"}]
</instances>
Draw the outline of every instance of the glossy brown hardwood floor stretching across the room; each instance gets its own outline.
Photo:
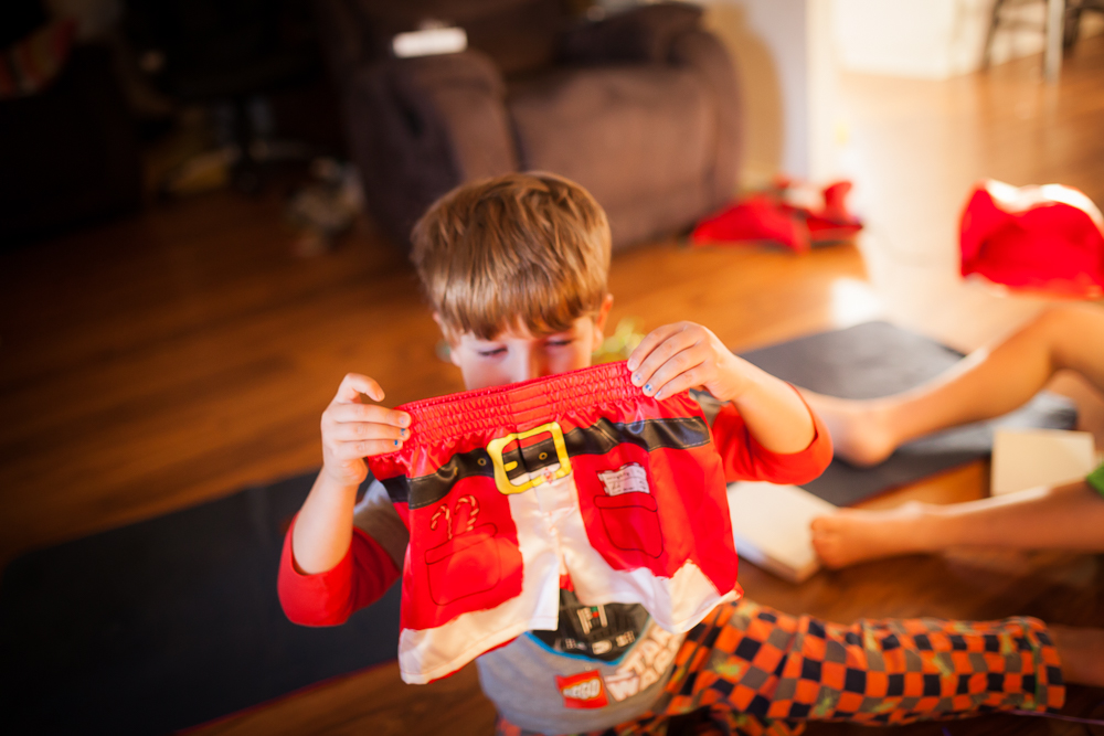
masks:
<instances>
[{"instance_id":1,"label":"glossy brown hardwood floor stretching across the room","mask_svg":"<svg viewBox=\"0 0 1104 736\"><path fill-rule=\"evenodd\" d=\"M870 223L860 246L796 257L646 245L614 259L614 323L696 320L735 349L878 316L959 348L1010 329L1045 302L955 277L969 184L1058 181L1104 203L1104 39L1081 43L1058 87L1038 66L1022 60L949 82L846 77L845 162ZM0 256L0 563L317 467L319 415L347 371L376 377L392 404L461 388L434 356L435 328L404 258L368 223L331 254L296 258L282 207L276 193L215 193ZM1091 425L1104 416L1100 397L1068 388ZM878 503L964 500L986 486L975 465ZM745 564L741 583L763 604L840 621L1029 614L1104 623L1101 556L956 552L802 586ZM1073 689L1066 711L1086 714L1102 698ZM471 668L415 687L383 665L199 733L474 735L492 719ZM948 729L1082 733L1012 716Z\"/></svg>"}]
</instances>

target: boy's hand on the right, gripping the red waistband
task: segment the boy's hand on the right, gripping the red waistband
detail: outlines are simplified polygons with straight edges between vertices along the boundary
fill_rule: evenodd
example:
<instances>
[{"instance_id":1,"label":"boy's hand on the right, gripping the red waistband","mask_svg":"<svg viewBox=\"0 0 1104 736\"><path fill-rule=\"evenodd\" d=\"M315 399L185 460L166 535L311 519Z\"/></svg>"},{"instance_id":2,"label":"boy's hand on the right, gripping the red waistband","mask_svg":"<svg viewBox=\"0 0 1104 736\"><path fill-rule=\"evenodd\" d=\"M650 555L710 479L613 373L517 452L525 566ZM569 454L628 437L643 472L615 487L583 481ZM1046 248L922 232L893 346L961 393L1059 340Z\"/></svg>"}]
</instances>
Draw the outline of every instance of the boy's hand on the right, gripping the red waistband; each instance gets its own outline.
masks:
<instances>
[{"instance_id":1,"label":"boy's hand on the right, gripping the red waistband","mask_svg":"<svg viewBox=\"0 0 1104 736\"><path fill-rule=\"evenodd\" d=\"M743 393L749 367L715 334L693 322L652 330L628 358L633 383L660 399L701 387L722 402L732 401Z\"/></svg>"}]
</instances>

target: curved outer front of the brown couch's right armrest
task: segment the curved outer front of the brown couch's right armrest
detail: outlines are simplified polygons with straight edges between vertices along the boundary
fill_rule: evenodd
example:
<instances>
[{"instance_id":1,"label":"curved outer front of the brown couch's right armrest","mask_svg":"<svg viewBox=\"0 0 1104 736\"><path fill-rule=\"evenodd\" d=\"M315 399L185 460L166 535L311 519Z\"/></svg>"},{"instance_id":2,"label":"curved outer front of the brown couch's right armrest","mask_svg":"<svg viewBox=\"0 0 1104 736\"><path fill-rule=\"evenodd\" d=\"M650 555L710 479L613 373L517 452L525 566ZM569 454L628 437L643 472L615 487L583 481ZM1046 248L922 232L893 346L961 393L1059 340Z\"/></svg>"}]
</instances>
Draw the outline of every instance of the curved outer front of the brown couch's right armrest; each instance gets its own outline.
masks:
<instances>
[{"instance_id":1,"label":"curved outer front of the brown couch's right armrest","mask_svg":"<svg viewBox=\"0 0 1104 736\"><path fill-rule=\"evenodd\" d=\"M744 110L736 70L721 40L701 29L678 35L671 43L670 58L676 65L692 68L713 98L716 147L711 209L716 209L735 194L743 154Z\"/></svg>"}]
</instances>

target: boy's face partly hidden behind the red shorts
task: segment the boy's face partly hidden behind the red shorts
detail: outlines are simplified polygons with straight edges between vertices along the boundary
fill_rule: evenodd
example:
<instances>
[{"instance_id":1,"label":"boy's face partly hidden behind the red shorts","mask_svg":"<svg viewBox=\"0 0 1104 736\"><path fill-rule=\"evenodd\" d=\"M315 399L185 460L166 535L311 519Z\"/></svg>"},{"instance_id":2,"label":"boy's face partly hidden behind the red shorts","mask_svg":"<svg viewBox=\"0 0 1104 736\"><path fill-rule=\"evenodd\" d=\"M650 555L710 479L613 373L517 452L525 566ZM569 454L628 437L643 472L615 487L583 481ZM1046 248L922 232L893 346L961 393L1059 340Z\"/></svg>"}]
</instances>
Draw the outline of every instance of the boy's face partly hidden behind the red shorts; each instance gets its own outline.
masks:
<instances>
[{"instance_id":1,"label":"boy's face partly hidden behind the red shorts","mask_svg":"<svg viewBox=\"0 0 1104 736\"><path fill-rule=\"evenodd\" d=\"M540 378L591 364L591 353L602 344L602 331L613 297L606 297L594 317L580 317L565 332L534 335L523 326L491 340L473 333L450 341L449 353L464 374L469 391Z\"/></svg>"}]
</instances>

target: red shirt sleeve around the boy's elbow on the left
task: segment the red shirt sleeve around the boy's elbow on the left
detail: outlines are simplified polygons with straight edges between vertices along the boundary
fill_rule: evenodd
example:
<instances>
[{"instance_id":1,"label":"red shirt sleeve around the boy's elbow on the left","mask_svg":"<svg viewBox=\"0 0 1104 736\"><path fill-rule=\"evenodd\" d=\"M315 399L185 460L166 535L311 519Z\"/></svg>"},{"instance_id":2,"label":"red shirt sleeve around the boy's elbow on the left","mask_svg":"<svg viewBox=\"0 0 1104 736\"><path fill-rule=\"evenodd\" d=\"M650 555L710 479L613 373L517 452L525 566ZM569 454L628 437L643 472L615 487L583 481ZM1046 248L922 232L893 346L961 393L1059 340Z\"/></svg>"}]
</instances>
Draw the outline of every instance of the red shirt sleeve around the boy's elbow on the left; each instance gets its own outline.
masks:
<instances>
[{"instance_id":1,"label":"red shirt sleeve around the boy's elbow on the left","mask_svg":"<svg viewBox=\"0 0 1104 736\"><path fill-rule=\"evenodd\" d=\"M360 529L353 529L349 551L325 573L307 575L295 565L291 532L284 537L277 589L284 615L304 626L344 623L353 611L379 600L399 579L399 568L383 546Z\"/></svg>"}]
</instances>

